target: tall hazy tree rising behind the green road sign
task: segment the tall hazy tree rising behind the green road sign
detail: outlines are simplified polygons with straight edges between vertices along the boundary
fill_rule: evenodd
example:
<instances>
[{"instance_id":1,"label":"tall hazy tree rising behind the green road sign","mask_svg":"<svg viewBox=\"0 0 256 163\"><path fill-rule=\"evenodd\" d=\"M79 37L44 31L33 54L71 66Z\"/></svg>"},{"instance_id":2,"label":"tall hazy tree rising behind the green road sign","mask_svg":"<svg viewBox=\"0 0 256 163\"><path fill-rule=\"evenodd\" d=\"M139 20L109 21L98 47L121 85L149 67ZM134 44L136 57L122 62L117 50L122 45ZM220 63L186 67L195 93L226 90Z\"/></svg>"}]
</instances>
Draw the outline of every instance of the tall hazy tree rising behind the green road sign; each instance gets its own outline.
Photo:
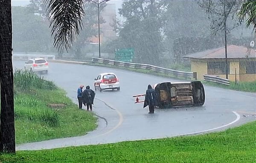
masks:
<instances>
[{"instance_id":1,"label":"tall hazy tree rising behind the green road sign","mask_svg":"<svg viewBox=\"0 0 256 163\"><path fill-rule=\"evenodd\" d=\"M125 48L134 48L137 62L158 64L164 53L163 16L166 1L129 0L122 4L119 14L125 22L118 29Z\"/></svg>"}]
</instances>

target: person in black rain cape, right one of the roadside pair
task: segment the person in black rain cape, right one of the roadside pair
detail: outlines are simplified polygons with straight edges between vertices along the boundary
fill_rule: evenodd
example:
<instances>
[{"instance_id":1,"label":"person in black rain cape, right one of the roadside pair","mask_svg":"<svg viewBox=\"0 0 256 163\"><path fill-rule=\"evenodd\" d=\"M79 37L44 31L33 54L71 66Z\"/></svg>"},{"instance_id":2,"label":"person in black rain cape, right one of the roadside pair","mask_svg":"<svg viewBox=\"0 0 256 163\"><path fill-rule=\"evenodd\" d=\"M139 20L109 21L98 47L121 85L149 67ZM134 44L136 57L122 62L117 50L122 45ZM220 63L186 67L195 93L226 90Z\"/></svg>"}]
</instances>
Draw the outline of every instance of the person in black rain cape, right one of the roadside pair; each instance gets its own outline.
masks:
<instances>
[{"instance_id":1,"label":"person in black rain cape, right one of the roadside pair","mask_svg":"<svg viewBox=\"0 0 256 163\"><path fill-rule=\"evenodd\" d=\"M94 97L95 97L95 92L92 89L90 89L89 85L87 85L86 89L83 92L83 102L84 102L84 106L86 105L87 110L89 110L89 108L91 111L93 110L92 105L93 105Z\"/></svg>"}]
</instances>

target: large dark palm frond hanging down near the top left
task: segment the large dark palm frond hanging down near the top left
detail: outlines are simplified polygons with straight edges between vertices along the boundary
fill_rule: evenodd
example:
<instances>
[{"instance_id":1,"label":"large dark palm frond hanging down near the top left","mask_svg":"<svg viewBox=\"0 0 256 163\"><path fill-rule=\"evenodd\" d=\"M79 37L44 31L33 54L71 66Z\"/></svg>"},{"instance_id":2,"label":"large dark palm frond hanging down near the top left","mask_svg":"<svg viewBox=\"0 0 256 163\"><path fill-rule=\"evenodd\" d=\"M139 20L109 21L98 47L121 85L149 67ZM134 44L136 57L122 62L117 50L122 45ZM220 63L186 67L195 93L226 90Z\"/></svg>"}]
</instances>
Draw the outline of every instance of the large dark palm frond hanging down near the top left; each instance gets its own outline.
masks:
<instances>
[{"instance_id":1,"label":"large dark palm frond hanging down near the top left","mask_svg":"<svg viewBox=\"0 0 256 163\"><path fill-rule=\"evenodd\" d=\"M84 16L83 0L44 0L50 21L53 45L58 51L68 52L74 39L80 34Z\"/></svg>"}]
</instances>

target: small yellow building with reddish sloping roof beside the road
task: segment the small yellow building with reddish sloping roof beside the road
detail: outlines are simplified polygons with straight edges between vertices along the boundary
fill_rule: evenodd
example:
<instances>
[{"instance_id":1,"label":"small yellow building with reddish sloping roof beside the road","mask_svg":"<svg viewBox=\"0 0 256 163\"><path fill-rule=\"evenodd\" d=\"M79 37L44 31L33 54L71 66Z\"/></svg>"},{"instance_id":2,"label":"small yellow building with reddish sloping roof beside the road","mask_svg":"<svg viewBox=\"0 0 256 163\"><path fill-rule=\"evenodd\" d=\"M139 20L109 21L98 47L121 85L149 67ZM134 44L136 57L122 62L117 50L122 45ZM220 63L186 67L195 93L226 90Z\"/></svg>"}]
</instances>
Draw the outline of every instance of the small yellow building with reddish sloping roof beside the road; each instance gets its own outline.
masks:
<instances>
[{"instance_id":1,"label":"small yellow building with reddish sloping roof beside the road","mask_svg":"<svg viewBox=\"0 0 256 163\"><path fill-rule=\"evenodd\" d=\"M183 56L191 60L192 72L197 72L198 79L203 75L218 75L226 78L225 48L215 48ZM256 81L256 51L242 46L227 46L228 79L230 81ZM236 77L235 77L236 75Z\"/></svg>"}]
</instances>

